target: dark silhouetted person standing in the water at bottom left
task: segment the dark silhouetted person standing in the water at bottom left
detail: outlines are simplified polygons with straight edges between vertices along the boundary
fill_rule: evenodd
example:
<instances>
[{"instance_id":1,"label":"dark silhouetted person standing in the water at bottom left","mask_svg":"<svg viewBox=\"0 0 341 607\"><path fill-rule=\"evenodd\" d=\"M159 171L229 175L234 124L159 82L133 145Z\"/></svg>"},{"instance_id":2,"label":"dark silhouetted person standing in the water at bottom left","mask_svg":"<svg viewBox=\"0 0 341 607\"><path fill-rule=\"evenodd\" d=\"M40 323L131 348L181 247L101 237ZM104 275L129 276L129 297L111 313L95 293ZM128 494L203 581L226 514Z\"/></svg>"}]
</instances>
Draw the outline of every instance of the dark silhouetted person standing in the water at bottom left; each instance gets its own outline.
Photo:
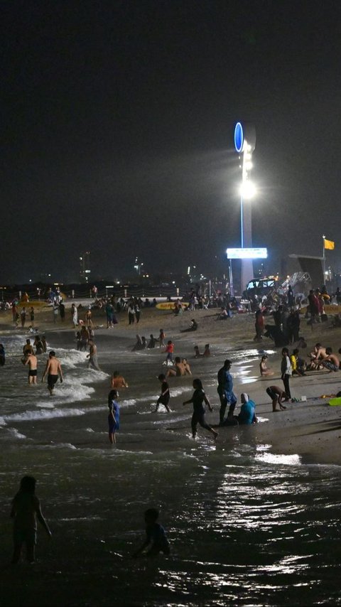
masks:
<instances>
[{"instance_id":1,"label":"dark silhouetted person standing in the water at bottom left","mask_svg":"<svg viewBox=\"0 0 341 607\"><path fill-rule=\"evenodd\" d=\"M20 489L12 500L11 518L14 519L13 564L20 560L23 544L26 544L27 561L34 563L34 552L37 543L37 519L43 525L48 537L52 535L41 512L40 502L35 495L35 490L36 479L33 476L24 476L20 481Z\"/></svg>"}]
</instances>

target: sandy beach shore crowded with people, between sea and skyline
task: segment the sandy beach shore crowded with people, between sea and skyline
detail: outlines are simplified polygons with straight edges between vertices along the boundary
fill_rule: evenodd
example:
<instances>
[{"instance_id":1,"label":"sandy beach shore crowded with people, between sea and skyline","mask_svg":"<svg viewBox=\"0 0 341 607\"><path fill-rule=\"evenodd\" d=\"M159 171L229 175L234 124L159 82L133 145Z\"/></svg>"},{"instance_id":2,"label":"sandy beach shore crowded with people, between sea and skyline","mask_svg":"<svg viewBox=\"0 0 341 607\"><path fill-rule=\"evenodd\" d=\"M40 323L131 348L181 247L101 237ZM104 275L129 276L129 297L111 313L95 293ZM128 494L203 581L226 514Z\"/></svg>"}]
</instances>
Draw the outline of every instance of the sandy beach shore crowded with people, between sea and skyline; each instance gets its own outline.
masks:
<instances>
[{"instance_id":1,"label":"sandy beach shore crowded with people, between sea and skyline","mask_svg":"<svg viewBox=\"0 0 341 607\"><path fill-rule=\"evenodd\" d=\"M87 307L84 307L79 316L85 316ZM84 313L83 313L84 312ZM193 377L197 375L202 379L205 385L209 385L210 399L215 409L215 418L219 410L219 399L213 385L212 372L207 372L206 361L194 358L194 345L200 346L200 351L203 350L205 343L210 343L211 357L210 367L215 366L216 372L222 366L225 358L229 358L229 353L232 355L232 376L234 377L234 392L240 402L241 392L247 391L251 398L256 402L256 414L258 417L266 418L268 421L256 424L248 428L252 434L253 441L256 444L270 444L271 453L275 455L294 455L301 457L302 463L316 464L341 464L341 411L339 407L330 407L328 399L320 398L323 394L336 394L341 389L341 371L328 373L325 371L311 372L305 377L295 377L291 380L291 391L293 397L307 397L306 402L288 403L287 409L283 412L272 412L272 405L265 390L271 384L282 385L281 377L276 370L279 370L281 353L279 349L274 348L274 343L271 340L264 338L262 343L254 343L254 315L235 315L227 321L216 321L218 310L210 308L209 310L197 310L190 313L183 313L180 316L175 316L169 311L158 311L154 308L144 309L141 314L141 321L138 325L129 326L126 313L118 315L119 323L113 329L107 329L106 318L104 311L94 311L94 331L95 340L98 346L99 366L101 366L101 353L106 355L115 355L115 337L119 340L127 340L131 342L131 348L134 345L136 333L145 335L147 340L149 335L153 333L154 337L158 336L159 329L162 327L166 332L166 340L169 336L175 343L175 355L186 355L193 370ZM7 318L4 318L6 314ZM180 330L186 328L190 319L195 318L198 323L197 331L193 333L180 333ZM5 321L5 322L4 322ZM305 321L301 321L301 328ZM48 341L53 340L54 347L60 343L60 347L75 348L75 329L70 326L70 305L67 303L66 318L64 323L58 318L57 323L53 323L53 317L50 310L41 310L36 313L36 325L41 334L47 336ZM101 326L102 325L102 326ZM320 341L323 345L331 345L334 351L337 351L339 340L337 329L330 329L329 323L321 323L320 326L314 327L314 331L307 326L301 330L301 334L305 335L308 347L301 350L301 355L310 352L313 345ZM309 333L308 333L309 331ZM16 333L23 335L25 338L30 337L27 328L13 328L11 323L11 311L3 313L0 317L0 332ZM33 333L31 334L33 336ZM63 345L62 345L63 344ZM130 344L129 344L130 345ZM294 345L289 347L291 350ZM130 349L131 349L130 348ZM182 353L180 353L182 350ZM253 355L257 355L257 350L276 352L269 355L269 366L275 371L274 376L261 378L259 376L259 360L248 361L247 374L239 373L239 362L233 364L233 354L239 350L253 351ZM152 353L152 350L150 351ZM158 350L160 352L160 350ZM191 354L192 352L192 354ZM121 357L121 353L120 353ZM260 355L259 355L260 358ZM136 362L139 359L136 358ZM124 357L121 358L124 362ZM200 362L202 363L200 365ZM215 365L216 362L216 365ZM105 364L104 372L110 371ZM155 363L155 375L159 370L160 362ZM118 365L119 366L119 365ZM206 367L206 368L205 368ZM164 368L164 367L163 367ZM104 382L98 382L95 390L102 395L107 391L107 385ZM176 385L176 384L173 384ZM128 393L126 394L128 396ZM129 398L133 397L129 390ZM238 405L237 405L238 407ZM214 422L210 419L210 423ZM229 443L229 434L232 429L225 427L220 428L219 442ZM243 433L244 434L244 433ZM122 439L124 431L122 432Z\"/></svg>"}]
</instances>

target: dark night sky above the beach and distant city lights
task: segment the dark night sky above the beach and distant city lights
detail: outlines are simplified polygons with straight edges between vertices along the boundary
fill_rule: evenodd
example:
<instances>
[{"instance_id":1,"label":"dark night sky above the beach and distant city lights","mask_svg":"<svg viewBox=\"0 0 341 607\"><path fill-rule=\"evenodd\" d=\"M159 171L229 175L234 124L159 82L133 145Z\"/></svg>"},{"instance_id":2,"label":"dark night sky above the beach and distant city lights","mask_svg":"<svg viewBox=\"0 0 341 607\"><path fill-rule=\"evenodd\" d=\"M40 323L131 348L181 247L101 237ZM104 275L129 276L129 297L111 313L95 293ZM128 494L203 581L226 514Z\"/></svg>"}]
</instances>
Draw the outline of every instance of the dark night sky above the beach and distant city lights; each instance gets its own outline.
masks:
<instances>
[{"instance_id":1,"label":"dark night sky above the beach and distant city lights","mask_svg":"<svg viewBox=\"0 0 341 607\"><path fill-rule=\"evenodd\" d=\"M255 246L340 269L341 5L3 1L0 281L224 267L237 120L256 127Z\"/></svg>"}]
</instances>

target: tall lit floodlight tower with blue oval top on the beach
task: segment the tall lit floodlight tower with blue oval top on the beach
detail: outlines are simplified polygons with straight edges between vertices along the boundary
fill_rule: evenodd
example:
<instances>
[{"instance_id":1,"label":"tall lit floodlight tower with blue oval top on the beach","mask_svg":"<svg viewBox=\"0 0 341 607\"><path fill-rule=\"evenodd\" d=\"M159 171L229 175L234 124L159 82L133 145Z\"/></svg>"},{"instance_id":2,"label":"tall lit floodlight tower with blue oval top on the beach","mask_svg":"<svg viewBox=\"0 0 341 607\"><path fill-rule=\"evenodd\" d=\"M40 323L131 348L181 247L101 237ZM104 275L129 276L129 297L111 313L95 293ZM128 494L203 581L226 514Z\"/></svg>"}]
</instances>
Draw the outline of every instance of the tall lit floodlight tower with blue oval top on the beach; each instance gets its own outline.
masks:
<instances>
[{"instance_id":1,"label":"tall lit floodlight tower with blue oval top on the beach","mask_svg":"<svg viewBox=\"0 0 341 607\"><path fill-rule=\"evenodd\" d=\"M242 161L242 186L240 188L240 231L242 249L252 247L251 204L254 186L249 180L252 168L252 152L256 147L256 130L252 124L237 122L234 127L234 147ZM254 277L252 259L242 259L242 291Z\"/></svg>"}]
</instances>

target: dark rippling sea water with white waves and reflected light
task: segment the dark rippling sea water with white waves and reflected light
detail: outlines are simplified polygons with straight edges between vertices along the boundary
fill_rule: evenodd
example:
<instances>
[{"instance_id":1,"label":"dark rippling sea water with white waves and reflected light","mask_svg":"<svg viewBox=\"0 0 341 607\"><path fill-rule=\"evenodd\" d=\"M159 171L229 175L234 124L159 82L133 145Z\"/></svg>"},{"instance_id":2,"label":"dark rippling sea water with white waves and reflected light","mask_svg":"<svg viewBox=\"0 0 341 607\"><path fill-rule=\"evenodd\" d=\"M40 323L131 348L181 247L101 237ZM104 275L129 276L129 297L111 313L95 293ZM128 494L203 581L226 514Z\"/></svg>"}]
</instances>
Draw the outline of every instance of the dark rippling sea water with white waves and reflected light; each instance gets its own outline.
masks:
<instances>
[{"instance_id":1,"label":"dark rippling sea water with white waves and reflected light","mask_svg":"<svg viewBox=\"0 0 341 607\"><path fill-rule=\"evenodd\" d=\"M154 413L164 355L131 353L124 339L97 338L101 372L86 353L51 333L65 380L50 397L28 386L21 364L26 335L1 336L1 604L315 605L340 604L338 466L305 465L271 453L252 428L199 429L191 438L191 378L173 378L171 414ZM186 355L185 351L183 355ZM257 350L234 351L234 375L254 381ZM40 381L46 355L39 357ZM217 422L221 357L194 360L205 375ZM190 361L192 362L192 361ZM204 368L205 367L205 368ZM107 436L109 375L120 390L117 445ZM161 407L162 409L162 407ZM40 530L38 563L9 568L9 503L24 474L37 493L53 539ZM144 510L158 507L171 555L131 559L144 540ZM18 599L20 598L20 600Z\"/></svg>"}]
</instances>

